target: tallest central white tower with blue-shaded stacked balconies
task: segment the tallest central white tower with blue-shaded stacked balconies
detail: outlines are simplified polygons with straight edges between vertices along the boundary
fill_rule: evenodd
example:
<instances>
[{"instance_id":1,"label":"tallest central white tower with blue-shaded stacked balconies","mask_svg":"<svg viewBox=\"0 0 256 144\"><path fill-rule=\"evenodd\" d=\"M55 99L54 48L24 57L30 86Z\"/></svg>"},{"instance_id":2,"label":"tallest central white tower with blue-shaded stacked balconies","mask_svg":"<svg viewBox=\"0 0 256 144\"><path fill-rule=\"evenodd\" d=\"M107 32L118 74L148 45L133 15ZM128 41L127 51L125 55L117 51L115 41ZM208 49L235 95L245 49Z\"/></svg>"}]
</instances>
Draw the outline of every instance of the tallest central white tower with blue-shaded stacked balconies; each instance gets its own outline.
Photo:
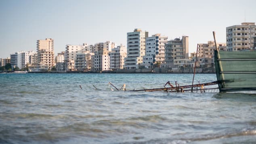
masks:
<instances>
[{"instance_id":1,"label":"tallest central white tower with blue-shaded stacked balconies","mask_svg":"<svg viewBox=\"0 0 256 144\"><path fill-rule=\"evenodd\" d=\"M125 69L139 68L139 64L145 56L147 31L136 28L133 32L127 33L127 57L124 59Z\"/></svg>"}]
</instances>

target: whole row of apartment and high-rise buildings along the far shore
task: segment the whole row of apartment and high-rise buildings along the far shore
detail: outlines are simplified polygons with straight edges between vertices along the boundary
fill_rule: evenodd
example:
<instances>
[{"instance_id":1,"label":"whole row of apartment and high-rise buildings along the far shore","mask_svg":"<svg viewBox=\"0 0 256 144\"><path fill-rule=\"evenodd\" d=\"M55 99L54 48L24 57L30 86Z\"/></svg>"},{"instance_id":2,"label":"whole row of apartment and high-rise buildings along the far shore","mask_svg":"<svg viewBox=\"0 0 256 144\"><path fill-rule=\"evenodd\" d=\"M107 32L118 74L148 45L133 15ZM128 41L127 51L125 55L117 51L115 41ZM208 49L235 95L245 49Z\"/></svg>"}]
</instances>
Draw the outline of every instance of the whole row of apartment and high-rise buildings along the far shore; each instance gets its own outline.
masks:
<instances>
[{"instance_id":1,"label":"whole row of apartment and high-rise buildings along the far shore","mask_svg":"<svg viewBox=\"0 0 256 144\"><path fill-rule=\"evenodd\" d=\"M239 51L256 48L255 23L226 28L227 42L218 43L220 50ZM147 31L139 28L127 33L127 48L116 46L114 42L106 41L95 45L66 45L65 52L54 55L54 40L46 38L37 40L37 52L16 52L11 54L12 68L29 66L32 71L47 71L55 68L57 71L109 71L117 69L136 69L170 67L182 68L193 66L195 53L189 57L188 36L168 40L159 33L149 37ZM213 51L215 44L209 41L198 44L197 64L200 67L213 66ZM3 59L0 59L3 65ZM8 62L5 60L5 62ZM26 65L28 64L28 65Z\"/></svg>"}]
</instances>

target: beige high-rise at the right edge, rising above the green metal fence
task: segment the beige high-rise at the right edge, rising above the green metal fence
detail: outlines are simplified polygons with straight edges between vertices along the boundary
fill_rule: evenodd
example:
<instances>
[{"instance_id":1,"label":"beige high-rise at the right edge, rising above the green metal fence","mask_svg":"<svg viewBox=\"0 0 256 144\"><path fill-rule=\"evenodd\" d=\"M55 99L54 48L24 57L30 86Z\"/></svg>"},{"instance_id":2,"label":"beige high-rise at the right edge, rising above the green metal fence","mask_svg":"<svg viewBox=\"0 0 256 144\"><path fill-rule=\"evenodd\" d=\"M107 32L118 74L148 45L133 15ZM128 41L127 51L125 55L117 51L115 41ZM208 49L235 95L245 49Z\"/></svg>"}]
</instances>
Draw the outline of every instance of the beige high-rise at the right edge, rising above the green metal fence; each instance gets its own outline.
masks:
<instances>
[{"instance_id":1,"label":"beige high-rise at the right edge, rising above the green metal fence","mask_svg":"<svg viewBox=\"0 0 256 144\"><path fill-rule=\"evenodd\" d=\"M228 51L255 49L256 36L255 23L244 22L242 25L226 27L226 40Z\"/></svg>"}]
</instances>

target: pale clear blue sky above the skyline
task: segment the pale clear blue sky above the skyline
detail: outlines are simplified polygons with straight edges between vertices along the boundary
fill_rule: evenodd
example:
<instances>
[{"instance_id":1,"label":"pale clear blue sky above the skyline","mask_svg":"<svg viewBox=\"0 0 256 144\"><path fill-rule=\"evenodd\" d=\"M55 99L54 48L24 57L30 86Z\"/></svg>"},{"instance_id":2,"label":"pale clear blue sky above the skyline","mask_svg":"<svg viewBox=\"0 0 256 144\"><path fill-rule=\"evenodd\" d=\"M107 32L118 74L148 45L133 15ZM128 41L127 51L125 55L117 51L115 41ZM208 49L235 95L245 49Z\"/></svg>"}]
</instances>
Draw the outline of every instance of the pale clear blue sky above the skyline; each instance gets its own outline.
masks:
<instances>
[{"instance_id":1,"label":"pale clear blue sky above the skyline","mask_svg":"<svg viewBox=\"0 0 256 144\"><path fill-rule=\"evenodd\" d=\"M36 51L36 41L54 39L55 55L67 44L111 41L127 45L135 28L197 43L226 42L226 27L256 22L255 0L0 0L0 58Z\"/></svg>"}]
</instances>

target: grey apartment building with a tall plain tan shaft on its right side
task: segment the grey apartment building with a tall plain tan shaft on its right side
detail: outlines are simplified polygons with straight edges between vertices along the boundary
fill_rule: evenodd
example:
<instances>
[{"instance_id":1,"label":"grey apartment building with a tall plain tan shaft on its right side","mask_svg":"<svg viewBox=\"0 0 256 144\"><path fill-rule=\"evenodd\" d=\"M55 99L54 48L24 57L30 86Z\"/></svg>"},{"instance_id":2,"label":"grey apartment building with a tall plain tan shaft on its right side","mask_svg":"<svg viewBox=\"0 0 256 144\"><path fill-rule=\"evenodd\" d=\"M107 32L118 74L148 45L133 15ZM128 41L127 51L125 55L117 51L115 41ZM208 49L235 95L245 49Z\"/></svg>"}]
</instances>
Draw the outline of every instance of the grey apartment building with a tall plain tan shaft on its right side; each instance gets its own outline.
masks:
<instances>
[{"instance_id":1,"label":"grey apartment building with a tall plain tan shaft on its right side","mask_svg":"<svg viewBox=\"0 0 256 144\"><path fill-rule=\"evenodd\" d=\"M188 36L169 40L165 44L165 66L175 67L175 59L188 59Z\"/></svg>"}]
</instances>

